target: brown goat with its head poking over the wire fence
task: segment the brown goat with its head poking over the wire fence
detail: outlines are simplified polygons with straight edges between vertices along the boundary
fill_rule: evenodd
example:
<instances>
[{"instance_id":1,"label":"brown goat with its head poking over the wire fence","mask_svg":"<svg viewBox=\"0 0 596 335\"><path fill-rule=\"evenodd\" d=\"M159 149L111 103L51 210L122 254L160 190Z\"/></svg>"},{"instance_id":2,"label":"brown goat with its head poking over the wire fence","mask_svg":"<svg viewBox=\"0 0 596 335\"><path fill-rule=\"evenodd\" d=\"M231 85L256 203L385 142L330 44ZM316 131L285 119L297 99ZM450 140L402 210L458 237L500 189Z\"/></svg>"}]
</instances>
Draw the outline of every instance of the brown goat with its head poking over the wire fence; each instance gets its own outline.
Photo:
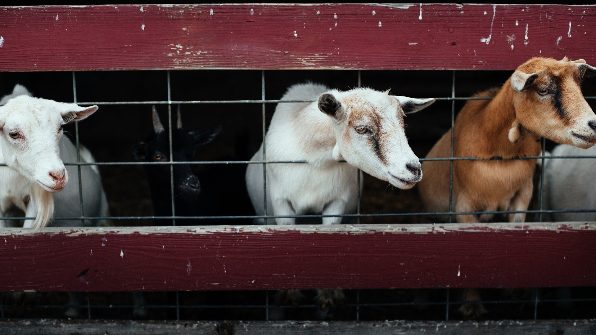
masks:
<instances>
[{"instance_id":1,"label":"brown goat with its head poking over the wire fence","mask_svg":"<svg viewBox=\"0 0 596 335\"><path fill-rule=\"evenodd\" d=\"M596 143L596 115L583 98L583 77L596 75L596 68L583 60L532 58L522 64L501 89L480 92L462 108L454 123L455 160L453 196L455 212L527 210L532 198L532 175L539 156L540 138L589 148ZM427 158L449 157L451 129L434 145ZM421 200L429 212L449 211L449 161L426 161L422 165ZM446 220L447 216L440 216ZM482 222L491 214L457 215L458 222ZM510 222L525 221L525 213L511 213ZM467 290L464 300L479 300ZM466 317L479 317L482 305L464 305Z\"/></svg>"}]
</instances>

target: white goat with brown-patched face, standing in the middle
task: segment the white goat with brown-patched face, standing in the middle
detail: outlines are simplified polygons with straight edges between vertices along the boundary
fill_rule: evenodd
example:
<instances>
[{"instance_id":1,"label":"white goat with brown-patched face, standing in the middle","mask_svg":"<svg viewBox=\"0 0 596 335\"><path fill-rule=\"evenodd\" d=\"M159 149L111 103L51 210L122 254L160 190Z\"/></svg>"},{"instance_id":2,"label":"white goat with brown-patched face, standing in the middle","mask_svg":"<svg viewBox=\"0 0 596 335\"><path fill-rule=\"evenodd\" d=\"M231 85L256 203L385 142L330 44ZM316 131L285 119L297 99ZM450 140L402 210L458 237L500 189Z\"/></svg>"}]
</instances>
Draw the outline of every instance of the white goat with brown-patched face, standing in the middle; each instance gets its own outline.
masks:
<instances>
[{"instance_id":1,"label":"white goat with brown-patched face, standing in the middle","mask_svg":"<svg viewBox=\"0 0 596 335\"><path fill-rule=\"evenodd\" d=\"M269 215L355 212L358 169L404 190L422 178L420 161L403 130L403 117L429 106L434 99L398 97L369 88L340 92L305 83L291 86L281 100L315 102L280 103L275 108L265 138L266 159L307 163L267 165ZM263 145L252 160L263 160ZM257 215L264 215L262 164L249 164L246 186ZM295 223L294 218L275 221L280 225ZM341 217L322 218L325 225L341 222ZM300 296L299 291L292 290L287 300L297 302ZM340 290L319 290L316 299L324 309L342 302L345 296Z\"/></svg>"}]
</instances>

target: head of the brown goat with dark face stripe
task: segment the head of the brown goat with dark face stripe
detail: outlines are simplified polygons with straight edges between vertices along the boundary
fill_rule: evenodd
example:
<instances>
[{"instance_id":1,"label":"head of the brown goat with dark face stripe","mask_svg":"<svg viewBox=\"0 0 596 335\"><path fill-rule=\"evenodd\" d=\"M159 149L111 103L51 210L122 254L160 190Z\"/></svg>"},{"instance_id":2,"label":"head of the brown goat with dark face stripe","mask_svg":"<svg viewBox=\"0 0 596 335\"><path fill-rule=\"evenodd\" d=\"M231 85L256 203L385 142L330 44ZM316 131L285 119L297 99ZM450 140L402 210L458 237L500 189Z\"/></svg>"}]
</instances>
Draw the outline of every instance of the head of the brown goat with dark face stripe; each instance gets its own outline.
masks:
<instances>
[{"instance_id":1,"label":"head of the brown goat with dark face stripe","mask_svg":"<svg viewBox=\"0 0 596 335\"><path fill-rule=\"evenodd\" d=\"M511 75L516 122L510 140L520 126L561 144L589 148L596 144L596 115L583 98L581 82L595 76L596 68L584 60L569 61L535 57Z\"/></svg>"}]
</instances>

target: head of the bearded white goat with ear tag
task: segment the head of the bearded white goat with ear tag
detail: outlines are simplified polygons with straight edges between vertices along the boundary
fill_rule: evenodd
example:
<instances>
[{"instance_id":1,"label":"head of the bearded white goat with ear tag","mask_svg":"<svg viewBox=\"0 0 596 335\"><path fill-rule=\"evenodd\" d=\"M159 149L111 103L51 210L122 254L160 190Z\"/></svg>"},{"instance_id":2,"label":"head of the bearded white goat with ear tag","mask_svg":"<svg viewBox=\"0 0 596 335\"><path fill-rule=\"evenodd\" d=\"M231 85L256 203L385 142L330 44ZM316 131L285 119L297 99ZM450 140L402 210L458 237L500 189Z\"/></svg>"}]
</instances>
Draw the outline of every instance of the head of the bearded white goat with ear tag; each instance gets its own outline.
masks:
<instances>
[{"instance_id":1,"label":"head of the bearded white goat with ear tag","mask_svg":"<svg viewBox=\"0 0 596 335\"><path fill-rule=\"evenodd\" d=\"M44 190L60 192L69 179L58 148L62 126L85 119L98 107L33 98L20 85L15 86L13 94L23 91L26 94L0 106L2 155L7 166Z\"/></svg>"}]
</instances>

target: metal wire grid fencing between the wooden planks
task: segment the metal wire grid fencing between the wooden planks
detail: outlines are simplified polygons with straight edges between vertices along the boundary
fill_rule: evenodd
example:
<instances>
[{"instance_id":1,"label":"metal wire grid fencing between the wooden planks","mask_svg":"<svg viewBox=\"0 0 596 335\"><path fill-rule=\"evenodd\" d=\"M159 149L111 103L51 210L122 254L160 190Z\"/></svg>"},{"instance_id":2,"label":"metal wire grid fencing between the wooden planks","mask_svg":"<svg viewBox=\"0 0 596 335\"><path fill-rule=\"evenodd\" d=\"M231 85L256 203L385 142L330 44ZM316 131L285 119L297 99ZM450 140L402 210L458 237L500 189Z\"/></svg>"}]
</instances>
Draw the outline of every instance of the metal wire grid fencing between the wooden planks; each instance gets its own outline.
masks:
<instances>
[{"instance_id":1,"label":"metal wire grid fencing between the wooden planks","mask_svg":"<svg viewBox=\"0 0 596 335\"><path fill-rule=\"evenodd\" d=\"M455 160L482 160L477 159L476 157L454 157L453 156L453 128L455 122L455 101L467 101L467 100L490 100L492 98L482 98L482 97L455 97L455 74L456 71L452 71L452 80L451 80L451 97L439 97L435 98L437 101L451 101L451 148L450 148L450 156L445 158L433 158L433 159L420 159L421 162L426 160L434 160L434 161L443 161L449 160L450 162L450 173L449 173L449 212L421 212L421 213L368 213L363 214L360 212L361 209L361 190L360 190L360 170L358 169L358 195L357 195L357 209L355 214L343 214L343 215L286 215L286 216L275 216L275 215L268 215L267 213L267 201L266 201L266 165L267 164L280 164L280 163L306 163L303 160L285 160L285 161L268 161L266 159L266 104L275 104L275 103L309 103L313 102L312 100L266 100L265 99L265 70L261 70L261 99L260 100L185 100L185 101L173 101L172 100L172 91L171 91L171 81L170 81L170 71L167 70L167 101L117 101L117 102L104 102L104 101L94 101L94 102L78 102L77 101L77 91L76 91L76 72L72 72L72 85L73 85L73 101L74 103L83 105L83 106L91 106L91 105L103 105L103 106L110 106L110 105L151 105L151 104L167 104L168 106L168 126L169 126L169 150L172 153L172 104L261 104L262 106L262 140L263 140L263 160L262 161L201 161L201 162L175 162L173 161L172 154L170 154L169 162L81 162L80 161L80 145L79 145L79 126L78 123L75 123L75 141L76 141L76 153L77 153L77 162L66 162L64 165L66 166L77 166L77 173L79 176L79 201L80 201L80 216L78 217L56 217L55 219L80 219L83 226L85 225L85 219L111 219L111 220L127 220L127 219L170 219L172 221L172 225L176 225L176 219L275 219L275 218L325 218L325 217L348 217L348 218L356 218L357 222L360 223L360 218L362 217L377 217L377 216L431 216L431 215L448 215L449 223L452 222L453 215L461 215L461 214L509 214L509 213L538 213L539 221L542 221L542 215L545 213L578 213L578 212L596 212L596 209L582 209L582 210L545 210L542 206L543 204L543 196L542 190L544 190L544 169L541 170L540 176L540 194L538 200L538 210L517 210L517 211L493 211L493 212L453 212L453 164ZM361 71L358 70L358 86L361 86ZM585 97L588 100L594 100L596 97ZM545 152L545 139L542 138L542 153L540 156L524 156L524 157L516 157L514 159L541 159L542 166L544 166L544 152ZM548 159L595 159L596 156L548 156ZM343 161L345 162L345 161ZM178 164L189 164L189 165L210 165L210 164L262 164L263 165L263 210L264 215L250 215L250 216L176 216L175 213L175 201L174 201L174 184L173 184L173 166ZM114 166L114 165L169 165L170 166L170 192L171 192L171 205L172 205L172 215L171 216L85 216L84 215L84 207L82 201L82 181L81 181L81 166L83 165L96 165L96 166ZM0 166L5 166L5 164L0 164ZM29 218L0 218L0 219L29 219ZM461 304L461 301L453 301L449 299L449 292L450 289L446 290L446 299L444 302L401 302L401 303L362 303L360 302L361 290L356 290L356 302L347 304L347 307L354 307L356 311L355 319L356 321L360 320L360 312L362 307L371 307L371 306L414 306L414 305L445 305L445 320L449 320L449 307L454 304ZM493 303L533 303L534 310L533 310L533 318L536 320L538 315L538 303L539 302L596 302L596 298L587 298L587 299L539 299L539 289L533 289L533 297L534 299L526 299L526 300L483 300L482 302L466 302L466 303L483 303L483 304L493 304ZM91 311L92 309L97 308L136 308L136 307L143 307L143 308L175 308L176 309L176 319L180 320L180 309L181 308L263 308L265 309L265 320L269 320L269 310L272 307L281 307L281 308L316 308L316 305L309 304L309 305L271 305L269 303L269 294L270 291L265 291L265 304L253 304L253 305L184 305L181 306L179 301L179 292L175 292L176 294L176 304L175 305L143 305L143 306L136 306L136 305L91 305L91 297L89 292L86 293L87 295L87 303L86 305L37 305L38 308L64 308L64 307L75 307L75 308L86 308L87 309L87 316L88 319L91 319ZM4 308L10 307L10 305L6 305L2 301L2 296L0 296L0 317L4 318Z\"/></svg>"}]
</instances>

